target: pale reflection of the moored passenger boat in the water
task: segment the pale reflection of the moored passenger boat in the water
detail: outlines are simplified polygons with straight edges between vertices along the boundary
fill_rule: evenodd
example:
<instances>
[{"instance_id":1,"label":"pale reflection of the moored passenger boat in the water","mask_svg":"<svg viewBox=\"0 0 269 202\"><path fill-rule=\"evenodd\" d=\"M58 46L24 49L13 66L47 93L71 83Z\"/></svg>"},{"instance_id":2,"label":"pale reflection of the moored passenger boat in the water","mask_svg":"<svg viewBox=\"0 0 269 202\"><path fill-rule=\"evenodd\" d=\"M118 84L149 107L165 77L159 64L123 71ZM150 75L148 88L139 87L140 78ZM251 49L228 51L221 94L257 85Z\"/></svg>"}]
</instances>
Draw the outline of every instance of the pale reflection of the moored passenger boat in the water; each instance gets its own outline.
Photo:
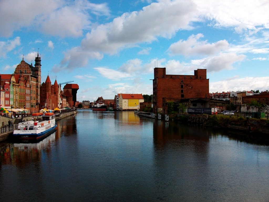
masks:
<instances>
[{"instance_id":1,"label":"pale reflection of the moored passenger boat in the water","mask_svg":"<svg viewBox=\"0 0 269 202\"><path fill-rule=\"evenodd\" d=\"M17 140L14 144L14 147L18 147L19 150L31 150L38 149L41 150L47 147L49 144L55 141L56 132L51 133L43 140Z\"/></svg>"}]
</instances>

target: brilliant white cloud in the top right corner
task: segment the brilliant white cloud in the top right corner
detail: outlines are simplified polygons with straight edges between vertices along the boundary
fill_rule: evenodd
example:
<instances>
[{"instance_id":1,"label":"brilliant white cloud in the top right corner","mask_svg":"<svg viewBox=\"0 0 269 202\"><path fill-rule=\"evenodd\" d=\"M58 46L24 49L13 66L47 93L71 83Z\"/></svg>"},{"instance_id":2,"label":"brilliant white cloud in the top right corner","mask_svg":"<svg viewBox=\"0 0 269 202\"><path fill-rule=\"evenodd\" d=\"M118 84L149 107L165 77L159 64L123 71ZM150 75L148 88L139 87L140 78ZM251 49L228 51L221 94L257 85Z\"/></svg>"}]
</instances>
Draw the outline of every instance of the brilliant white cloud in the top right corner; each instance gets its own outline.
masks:
<instances>
[{"instance_id":1,"label":"brilliant white cloud in the top right corner","mask_svg":"<svg viewBox=\"0 0 269 202\"><path fill-rule=\"evenodd\" d=\"M267 0L194 0L194 3L201 18L211 20L213 26L235 27L238 32L256 30L259 26L269 27Z\"/></svg>"}]
</instances>

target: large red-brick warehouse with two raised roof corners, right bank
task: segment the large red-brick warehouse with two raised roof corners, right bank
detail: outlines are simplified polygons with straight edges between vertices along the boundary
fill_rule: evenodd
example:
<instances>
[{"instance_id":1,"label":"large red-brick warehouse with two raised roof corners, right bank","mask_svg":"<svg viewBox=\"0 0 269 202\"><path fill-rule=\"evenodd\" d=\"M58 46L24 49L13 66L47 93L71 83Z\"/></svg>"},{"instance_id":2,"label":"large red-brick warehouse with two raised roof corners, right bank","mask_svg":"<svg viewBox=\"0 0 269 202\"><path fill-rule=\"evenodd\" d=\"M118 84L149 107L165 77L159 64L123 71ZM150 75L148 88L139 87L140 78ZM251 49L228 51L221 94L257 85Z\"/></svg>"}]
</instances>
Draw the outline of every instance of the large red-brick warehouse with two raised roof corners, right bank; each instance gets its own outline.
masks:
<instances>
[{"instance_id":1,"label":"large red-brick warehouse with two raised roof corners, right bank","mask_svg":"<svg viewBox=\"0 0 269 202\"><path fill-rule=\"evenodd\" d=\"M206 69L194 70L194 75L167 75L166 68L154 68L153 113L162 113L162 98L207 98L209 79Z\"/></svg>"}]
</instances>

